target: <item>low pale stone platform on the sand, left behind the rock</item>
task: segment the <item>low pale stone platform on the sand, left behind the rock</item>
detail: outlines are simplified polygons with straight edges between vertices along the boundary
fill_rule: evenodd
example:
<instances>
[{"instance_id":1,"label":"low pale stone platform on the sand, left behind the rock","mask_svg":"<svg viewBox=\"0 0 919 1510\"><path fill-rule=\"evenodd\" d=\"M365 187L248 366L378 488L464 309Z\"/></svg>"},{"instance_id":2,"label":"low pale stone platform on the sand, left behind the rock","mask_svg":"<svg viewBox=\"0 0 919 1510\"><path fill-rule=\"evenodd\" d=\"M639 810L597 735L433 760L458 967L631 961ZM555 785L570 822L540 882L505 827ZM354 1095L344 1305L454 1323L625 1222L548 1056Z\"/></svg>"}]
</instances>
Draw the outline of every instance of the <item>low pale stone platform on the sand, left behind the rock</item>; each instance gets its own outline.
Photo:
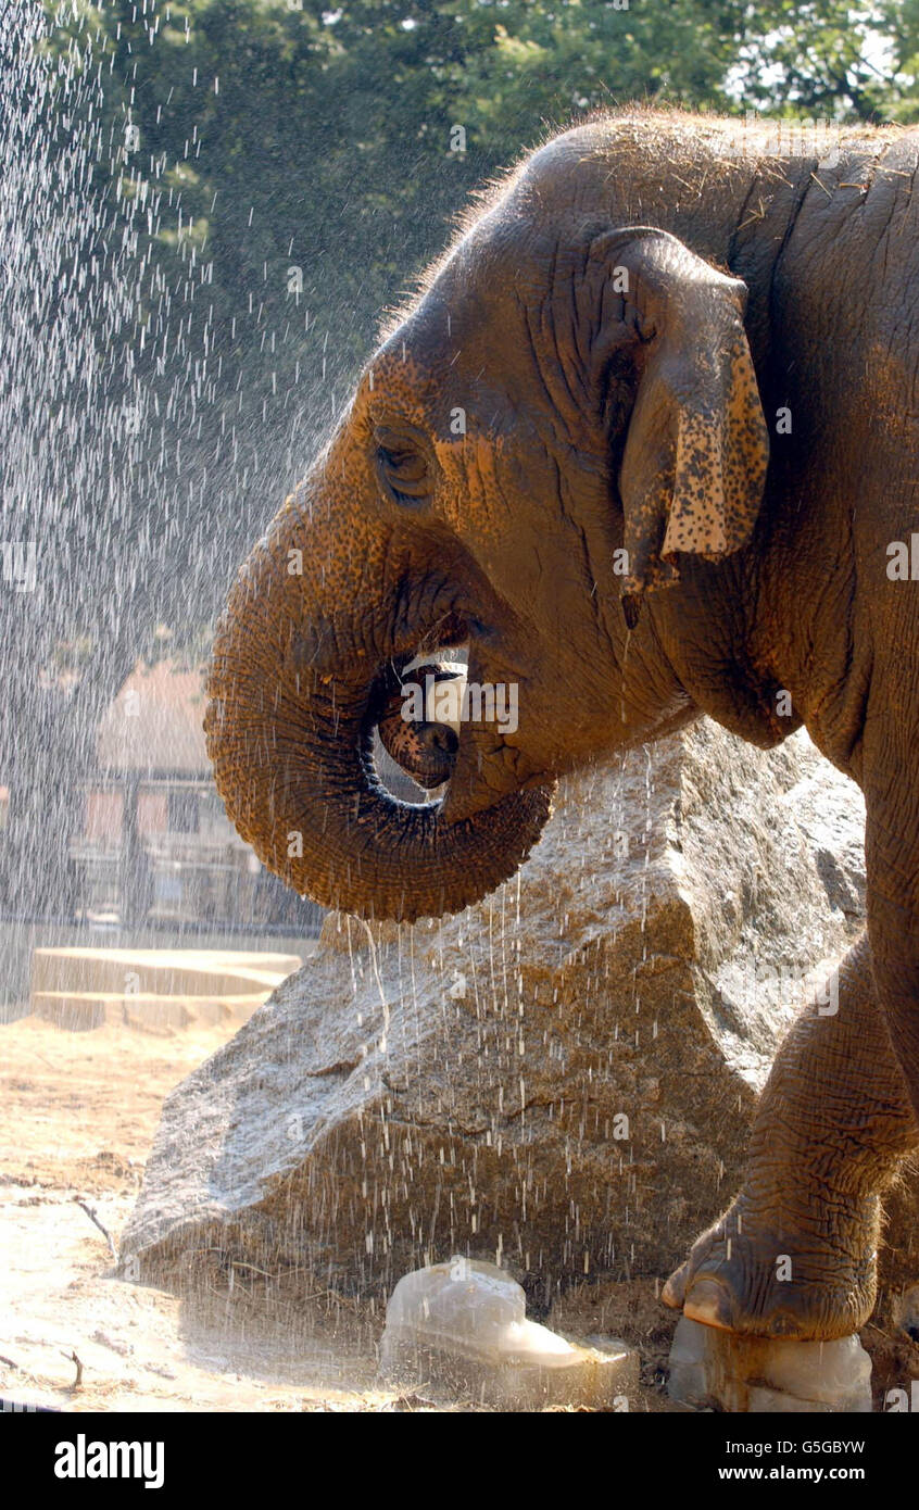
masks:
<instances>
[{"instance_id":1,"label":"low pale stone platform on the sand, left behind the rock","mask_svg":"<svg viewBox=\"0 0 919 1510\"><path fill-rule=\"evenodd\" d=\"M71 1031L244 1022L300 965L299 954L234 950L38 948L30 1007Z\"/></svg>"}]
</instances>

